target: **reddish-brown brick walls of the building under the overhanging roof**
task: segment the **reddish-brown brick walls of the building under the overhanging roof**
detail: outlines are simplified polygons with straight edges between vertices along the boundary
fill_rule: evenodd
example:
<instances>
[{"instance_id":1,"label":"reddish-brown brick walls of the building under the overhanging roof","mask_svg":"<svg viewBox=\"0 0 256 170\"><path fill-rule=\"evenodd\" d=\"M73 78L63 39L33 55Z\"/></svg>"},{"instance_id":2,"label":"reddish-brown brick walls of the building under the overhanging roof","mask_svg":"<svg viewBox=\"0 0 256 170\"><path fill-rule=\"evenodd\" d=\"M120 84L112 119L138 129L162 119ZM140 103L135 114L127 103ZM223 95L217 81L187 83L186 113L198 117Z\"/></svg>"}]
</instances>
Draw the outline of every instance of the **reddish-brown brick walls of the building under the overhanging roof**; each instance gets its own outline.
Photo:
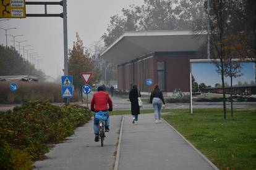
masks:
<instances>
[{"instance_id":1,"label":"reddish-brown brick walls of the building under the overhanging roof","mask_svg":"<svg viewBox=\"0 0 256 170\"><path fill-rule=\"evenodd\" d=\"M146 79L151 78L153 84L158 83L157 62L166 63L166 92L173 92L174 89L189 92L189 71L190 59L198 59L195 52L176 53L158 53L154 57L139 60L125 66L119 66L118 69L118 89L129 91L130 84L137 84L140 91L147 92L148 87ZM150 86L150 91L153 87Z\"/></svg>"}]
</instances>

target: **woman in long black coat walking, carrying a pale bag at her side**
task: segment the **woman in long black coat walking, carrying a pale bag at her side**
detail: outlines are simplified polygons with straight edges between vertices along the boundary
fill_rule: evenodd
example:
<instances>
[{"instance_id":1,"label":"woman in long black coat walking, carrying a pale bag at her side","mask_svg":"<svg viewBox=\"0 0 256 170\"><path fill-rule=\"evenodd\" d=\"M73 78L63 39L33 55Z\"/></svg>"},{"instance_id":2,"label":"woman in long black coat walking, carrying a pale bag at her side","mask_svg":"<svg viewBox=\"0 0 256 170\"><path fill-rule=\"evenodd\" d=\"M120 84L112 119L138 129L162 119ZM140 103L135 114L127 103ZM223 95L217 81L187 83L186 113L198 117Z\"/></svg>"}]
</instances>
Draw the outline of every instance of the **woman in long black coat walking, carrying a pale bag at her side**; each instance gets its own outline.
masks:
<instances>
[{"instance_id":1,"label":"woman in long black coat walking, carrying a pale bag at her side","mask_svg":"<svg viewBox=\"0 0 256 170\"><path fill-rule=\"evenodd\" d=\"M137 124L138 117L140 114L140 107L139 107L139 102L138 102L138 97L141 97L140 91L137 87L136 84L132 86L132 89L130 90L129 93L129 99L130 99L130 105L131 105L131 111L132 111L132 124Z\"/></svg>"}]
</instances>

